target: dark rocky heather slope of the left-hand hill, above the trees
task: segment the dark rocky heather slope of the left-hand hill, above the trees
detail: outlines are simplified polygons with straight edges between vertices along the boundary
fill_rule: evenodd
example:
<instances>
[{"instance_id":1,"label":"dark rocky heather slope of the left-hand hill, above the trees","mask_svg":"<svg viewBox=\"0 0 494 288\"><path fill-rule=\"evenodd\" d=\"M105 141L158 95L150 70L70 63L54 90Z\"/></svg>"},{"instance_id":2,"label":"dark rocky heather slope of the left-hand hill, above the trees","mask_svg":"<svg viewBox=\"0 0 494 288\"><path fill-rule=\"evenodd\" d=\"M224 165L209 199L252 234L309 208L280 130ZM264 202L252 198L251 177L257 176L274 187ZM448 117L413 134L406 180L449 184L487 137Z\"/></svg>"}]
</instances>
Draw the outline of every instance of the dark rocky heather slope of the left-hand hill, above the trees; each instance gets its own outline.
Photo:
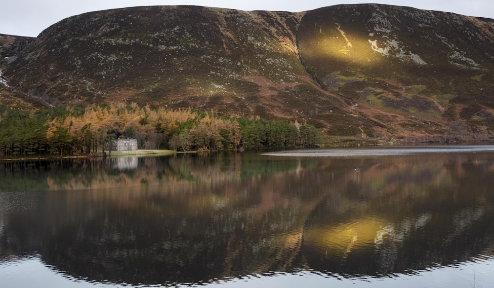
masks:
<instances>
[{"instance_id":1,"label":"dark rocky heather slope of the left-hand hill, above the trees","mask_svg":"<svg viewBox=\"0 0 494 288\"><path fill-rule=\"evenodd\" d=\"M198 6L87 13L46 29L4 74L63 102L212 107L247 98L252 107L237 108L251 113L259 96L251 77L283 83L305 73L297 24L289 13Z\"/></svg>"}]
</instances>

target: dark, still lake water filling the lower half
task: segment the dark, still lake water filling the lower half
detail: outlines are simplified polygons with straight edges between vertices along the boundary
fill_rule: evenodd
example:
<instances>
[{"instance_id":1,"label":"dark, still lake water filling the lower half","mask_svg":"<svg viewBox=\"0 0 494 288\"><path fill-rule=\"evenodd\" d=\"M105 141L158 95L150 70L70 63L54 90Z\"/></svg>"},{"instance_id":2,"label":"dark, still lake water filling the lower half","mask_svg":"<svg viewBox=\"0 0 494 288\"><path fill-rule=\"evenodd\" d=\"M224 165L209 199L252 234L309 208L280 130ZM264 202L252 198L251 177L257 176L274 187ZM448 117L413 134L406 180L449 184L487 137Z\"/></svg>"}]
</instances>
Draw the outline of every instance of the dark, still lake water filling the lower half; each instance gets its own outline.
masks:
<instances>
[{"instance_id":1,"label":"dark, still lake water filling the lower half","mask_svg":"<svg viewBox=\"0 0 494 288\"><path fill-rule=\"evenodd\" d=\"M494 146L382 150L0 162L0 287L493 287Z\"/></svg>"}]
</instances>

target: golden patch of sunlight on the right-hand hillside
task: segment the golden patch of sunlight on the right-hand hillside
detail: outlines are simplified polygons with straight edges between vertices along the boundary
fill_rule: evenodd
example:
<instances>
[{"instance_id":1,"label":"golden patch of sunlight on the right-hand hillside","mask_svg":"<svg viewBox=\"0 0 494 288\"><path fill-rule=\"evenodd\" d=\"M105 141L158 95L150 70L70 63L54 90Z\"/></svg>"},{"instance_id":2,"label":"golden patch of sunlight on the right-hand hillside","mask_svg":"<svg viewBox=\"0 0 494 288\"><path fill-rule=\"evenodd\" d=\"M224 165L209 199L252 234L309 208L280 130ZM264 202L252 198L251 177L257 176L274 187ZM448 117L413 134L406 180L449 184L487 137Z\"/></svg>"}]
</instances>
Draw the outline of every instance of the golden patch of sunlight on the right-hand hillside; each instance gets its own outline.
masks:
<instances>
[{"instance_id":1,"label":"golden patch of sunlight on the right-hand hillside","mask_svg":"<svg viewBox=\"0 0 494 288\"><path fill-rule=\"evenodd\" d=\"M319 37L313 42L316 54L324 58L333 58L359 65L375 65L383 59L372 50L368 37L345 32L338 23L329 30L320 28Z\"/></svg>"}]
</instances>

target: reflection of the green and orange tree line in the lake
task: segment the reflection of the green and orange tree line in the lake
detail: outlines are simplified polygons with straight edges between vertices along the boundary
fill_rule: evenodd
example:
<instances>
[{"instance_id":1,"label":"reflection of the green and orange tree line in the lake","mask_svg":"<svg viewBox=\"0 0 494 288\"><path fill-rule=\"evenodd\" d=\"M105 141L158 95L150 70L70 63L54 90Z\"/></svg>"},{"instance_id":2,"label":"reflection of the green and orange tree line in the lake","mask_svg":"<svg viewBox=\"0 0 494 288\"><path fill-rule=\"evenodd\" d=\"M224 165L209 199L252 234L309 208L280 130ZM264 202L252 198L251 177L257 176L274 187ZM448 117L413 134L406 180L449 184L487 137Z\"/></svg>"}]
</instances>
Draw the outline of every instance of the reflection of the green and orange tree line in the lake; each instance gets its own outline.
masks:
<instances>
[{"instance_id":1,"label":"reflection of the green and orange tree line in the lake","mask_svg":"<svg viewBox=\"0 0 494 288\"><path fill-rule=\"evenodd\" d=\"M313 162L313 161L312 161ZM265 177L297 169L296 160L271 161L256 154L188 154L0 162L0 191L100 189L122 185L175 187L182 181L218 182ZM313 164L308 164L313 165Z\"/></svg>"}]
</instances>

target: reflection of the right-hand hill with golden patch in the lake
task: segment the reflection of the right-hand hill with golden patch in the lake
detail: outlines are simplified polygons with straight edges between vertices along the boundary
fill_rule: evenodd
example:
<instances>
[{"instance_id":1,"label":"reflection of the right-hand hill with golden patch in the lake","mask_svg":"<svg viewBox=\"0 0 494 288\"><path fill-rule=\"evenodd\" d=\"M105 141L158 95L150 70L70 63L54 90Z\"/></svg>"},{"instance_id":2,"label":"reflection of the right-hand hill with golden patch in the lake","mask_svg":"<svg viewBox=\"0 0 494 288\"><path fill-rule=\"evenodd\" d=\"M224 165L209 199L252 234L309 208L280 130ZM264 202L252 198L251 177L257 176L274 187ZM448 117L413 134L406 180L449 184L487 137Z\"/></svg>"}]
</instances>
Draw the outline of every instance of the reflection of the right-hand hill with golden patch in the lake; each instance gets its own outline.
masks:
<instances>
[{"instance_id":1,"label":"reflection of the right-hand hill with golden patch in the lake","mask_svg":"<svg viewBox=\"0 0 494 288\"><path fill-rule=\"evenodd\" d=\"M306 222L301 252L308 265L329 274L382 276L482 254L494 243L494 164L473 158L360 161L345 190L326 198Z\"/></svg>"}]
</instances>

